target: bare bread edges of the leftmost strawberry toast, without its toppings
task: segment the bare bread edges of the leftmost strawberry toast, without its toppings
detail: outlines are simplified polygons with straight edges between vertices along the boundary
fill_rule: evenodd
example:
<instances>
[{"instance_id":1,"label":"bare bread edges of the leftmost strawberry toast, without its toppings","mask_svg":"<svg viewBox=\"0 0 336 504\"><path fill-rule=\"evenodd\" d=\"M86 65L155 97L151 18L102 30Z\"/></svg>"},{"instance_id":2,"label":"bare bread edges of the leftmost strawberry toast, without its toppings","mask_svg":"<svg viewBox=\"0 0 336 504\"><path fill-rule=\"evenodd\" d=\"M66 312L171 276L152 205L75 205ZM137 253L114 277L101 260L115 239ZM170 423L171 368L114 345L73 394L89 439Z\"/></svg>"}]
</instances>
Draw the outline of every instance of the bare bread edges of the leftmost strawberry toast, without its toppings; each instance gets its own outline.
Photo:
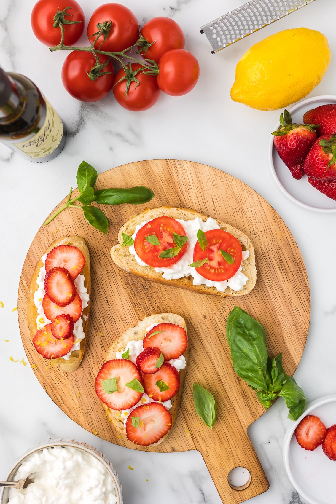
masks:
<instances>
[{"instance_id":1,"label":"bare bread edges of the leftmost strawberry toast, without its toppings","mask_svg":"<svg viewBox=\"0 0 336 504\"><path fill-rule=\"evenodd\" d=\"M62 238L59 238L58 240L55 240L51 243L51 245L44 251L42 256L46 254L47 252L50 252L53 248L59 246L59 245L74 245L77 248L79 248L85 257L85 266L82 271L82 275L85 277L84 281L84 286L87 289L87 292L90 296L91 292L91 279L90 279L90 254L89 254L89 249L87 247L86 241L84 238L80 238L79 236L63 236ZM41 257L42 257L41 256ZM36 283L36 280L38 278L40 269L43 266L43 262L41 259L37 261L34 273L30 282L30 287L29 287L29 296L28 296L28 303L27 303L27 320L28 320L28 328L30 331L30 337L31 339L34 338L34 335L37 331L37 324L36 324L36 318L37 318L37 308L34 304L34 293L38 289L38 285ZM66 308L66 306L65 306ZM83 321L83 331L85 333L85 338L82 339L81 341L81 346L79 350L74 350L70 358L64 359L63 357L60 357L58 359L50 359L50 362L54 366L60 366L61 369L67 372L72 372L75 371L79 366L80 363L82 362L83 355L84 355L84 348L85 348L85 343L86 343L86 334L87 334L87 326L88 326L88 321L89 321L89 310L90 310L90 301L88 302L88 305L86 308L83 309L82 312L82 321ZM36 352L37 353L37 352ZM41 357L43 358L43 357Z\"/></svg>"}]
</instances>

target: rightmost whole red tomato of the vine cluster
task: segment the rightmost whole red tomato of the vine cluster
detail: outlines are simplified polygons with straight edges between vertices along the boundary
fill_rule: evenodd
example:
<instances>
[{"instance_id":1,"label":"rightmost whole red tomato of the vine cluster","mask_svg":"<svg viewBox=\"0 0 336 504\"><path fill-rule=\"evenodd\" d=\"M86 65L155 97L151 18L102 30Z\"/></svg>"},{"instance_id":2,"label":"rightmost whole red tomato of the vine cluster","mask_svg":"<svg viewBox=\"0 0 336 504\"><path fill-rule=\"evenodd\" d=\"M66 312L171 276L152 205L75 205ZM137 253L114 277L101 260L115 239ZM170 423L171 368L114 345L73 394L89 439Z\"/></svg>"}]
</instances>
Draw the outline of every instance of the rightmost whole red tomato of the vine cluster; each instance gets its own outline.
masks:
<instances>
[{"instance_id":1,"label":"rightmost whole red tomato of the vine cluster","mask_svg":"<svg viewBox=\"0 0 336 504\"><path fill-rule=\"evenodd\" d=\"M171 96L189 93L199 78L198 61L191 52L184 49L172 49L161 56L159 74L156 77L161 91Z\"/></svg>"}]
</instances>

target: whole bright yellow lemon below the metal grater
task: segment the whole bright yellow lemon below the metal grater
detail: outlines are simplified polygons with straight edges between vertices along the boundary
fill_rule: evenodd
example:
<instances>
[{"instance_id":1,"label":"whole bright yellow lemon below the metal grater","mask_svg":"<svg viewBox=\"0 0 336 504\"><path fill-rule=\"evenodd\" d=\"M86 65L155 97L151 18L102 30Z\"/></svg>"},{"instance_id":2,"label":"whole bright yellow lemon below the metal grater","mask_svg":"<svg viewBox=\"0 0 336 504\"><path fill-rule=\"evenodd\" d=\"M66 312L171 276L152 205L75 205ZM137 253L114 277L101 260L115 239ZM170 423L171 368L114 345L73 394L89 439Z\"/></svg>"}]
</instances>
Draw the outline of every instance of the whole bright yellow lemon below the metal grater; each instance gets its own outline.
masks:
<instances>
[{"instance_id":1,"label":"whole bright yellow lemon below the metal grater","mask_svg":"<svg viewBox=\"0 0 336 504\"><path fill-rule=\"evenodd\" d=\"M331 59L327 38L316 30L283 30L253 45L238 61L234 101L277 110L307 96Z\"/></svg>"}]
</instances>

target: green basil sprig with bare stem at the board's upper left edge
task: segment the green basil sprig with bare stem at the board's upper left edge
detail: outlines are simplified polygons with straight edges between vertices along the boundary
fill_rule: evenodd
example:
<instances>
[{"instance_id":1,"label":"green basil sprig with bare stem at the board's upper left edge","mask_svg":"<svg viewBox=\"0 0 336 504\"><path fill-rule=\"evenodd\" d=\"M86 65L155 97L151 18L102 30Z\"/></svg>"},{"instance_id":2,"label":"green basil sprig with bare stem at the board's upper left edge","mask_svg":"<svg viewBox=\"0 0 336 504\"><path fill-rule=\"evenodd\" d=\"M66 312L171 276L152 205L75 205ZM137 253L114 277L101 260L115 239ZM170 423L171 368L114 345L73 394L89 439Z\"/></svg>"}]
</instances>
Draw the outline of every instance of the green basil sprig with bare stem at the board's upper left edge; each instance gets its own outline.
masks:
<instances>
[{"instance_id":1,"label":"green basil sprig with bare stem at the board's upper left edge","mask_svg":"<svg viewBox=\"0 0 336 504\"><path fill-rule=\"evenodd\" d=\"M72 187L67 199L67 203L63 205L57 212L55 212L49 219L44 222L44 226L49 224L57 215L68 207L81 208L83 210L84 218L91 226L95 227L102 233L107 233L108 220L105 214L97 207L92 207L93 202L104 205L121 205L122 203L131 203L132 205L147 203L154 194L147 187L131 187L129 189L102 189L99 191L94 190L97 181L97 170L89 163L83 161L77 170L76 179L78 184L79 196L71 199ZM75 205L75 202L81 205Z\"/></svg>"}]
</instances>

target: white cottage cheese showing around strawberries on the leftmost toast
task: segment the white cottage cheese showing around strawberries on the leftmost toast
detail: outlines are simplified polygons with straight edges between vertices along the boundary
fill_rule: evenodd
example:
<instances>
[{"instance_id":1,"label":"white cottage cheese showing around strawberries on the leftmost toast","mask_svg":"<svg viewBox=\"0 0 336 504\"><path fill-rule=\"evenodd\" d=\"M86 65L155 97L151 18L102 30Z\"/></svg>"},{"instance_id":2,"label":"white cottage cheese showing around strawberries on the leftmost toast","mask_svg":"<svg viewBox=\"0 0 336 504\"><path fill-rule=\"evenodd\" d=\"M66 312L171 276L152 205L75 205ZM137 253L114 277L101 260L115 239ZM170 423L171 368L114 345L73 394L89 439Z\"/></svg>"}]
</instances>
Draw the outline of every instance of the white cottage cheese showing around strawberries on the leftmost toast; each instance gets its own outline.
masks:
<instances>
[{"instance_id":1,"label":"white cottage cheese showing around strawberries on the leftmost toast","mask_svg":"<svg viewBox=\"0 0 336 504\"><path fill-rule=\"evenodd\" d=\"M45 279L45 259L47 255L44 254L44 256L41 257L41 261L43 262L43 266L40 269L39 275L37 277L36 283L38 285L37 291L34 293L34 304L37 308L37 318L36 318L36 325L37 329L42 329L42 327L46 326L47 324L51 324L51 321L48 320L45 317L44 311L43 311L43 306L42 306L42 301L43 297L45 294L44 290L44 279ZM87 293L87 289L84 287L84 281L85 277L84 275L78 275L77 278L74 280L74 284L77 288L77 292L82 300L83 304L83 309L87 307L88 302L89 302L89 294ZM66 306L64 309L66 310ZM72 349L63 357L63 359L69 360L71 352L74 350L79 350L81 347L81 341L85 338L85 333L83 331L83 321L82 318L80 318L77 322L75 322L75 328L73 331L74 334L74 339L75 342L73 344Z\"/></svg>"}]
</instances>

